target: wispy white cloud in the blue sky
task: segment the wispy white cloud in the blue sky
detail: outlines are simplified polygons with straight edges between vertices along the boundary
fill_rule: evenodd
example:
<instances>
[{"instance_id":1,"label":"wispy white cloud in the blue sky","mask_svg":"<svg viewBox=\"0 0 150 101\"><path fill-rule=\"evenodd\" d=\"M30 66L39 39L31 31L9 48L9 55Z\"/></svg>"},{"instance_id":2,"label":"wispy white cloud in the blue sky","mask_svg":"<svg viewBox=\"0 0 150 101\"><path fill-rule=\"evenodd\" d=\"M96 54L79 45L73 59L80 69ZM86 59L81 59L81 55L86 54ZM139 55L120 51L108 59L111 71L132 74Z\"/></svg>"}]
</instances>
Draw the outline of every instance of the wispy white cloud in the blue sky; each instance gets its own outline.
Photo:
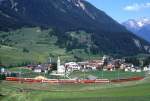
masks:
<instances>
[{"instance_id":1,"label":"wispy white cloud in the blue sky","mask_svg":"<svg viewBox=\"0 0 150 101\"><path fill-rule=\"evenodd\" d=\"M134 3L132 5L127 5L124 7L124 10L126 10L126 11L139 11L139 10L146 9L146 8L150 8L150 2L141 3L141 4Z\"/></svg>"}]
</instances>

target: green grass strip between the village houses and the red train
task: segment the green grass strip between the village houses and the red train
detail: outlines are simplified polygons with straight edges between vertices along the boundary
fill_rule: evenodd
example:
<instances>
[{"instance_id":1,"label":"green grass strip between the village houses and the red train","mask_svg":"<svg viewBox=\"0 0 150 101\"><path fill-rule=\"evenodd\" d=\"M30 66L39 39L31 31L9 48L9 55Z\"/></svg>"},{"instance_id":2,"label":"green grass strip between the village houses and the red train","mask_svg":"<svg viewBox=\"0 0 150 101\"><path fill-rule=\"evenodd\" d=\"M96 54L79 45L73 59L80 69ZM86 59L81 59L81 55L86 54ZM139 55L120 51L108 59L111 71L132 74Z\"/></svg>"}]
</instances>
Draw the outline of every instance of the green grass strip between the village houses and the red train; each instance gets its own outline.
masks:
<instances>
[{"instance_id":1,"label":"green grass strip between the village houses and the red train","mask_svg":"<svg viewBox=\"0 0 150 101\"><path fill-rule=\"evenodd\" d=\"M49 79L54 79L54 78L58 78L58 77L54 77L51 76L49 74L44 74L44 73L34 73L32 70L27 69L27 68L20 68L20 67L14 67L14 68L9 68L9 71L12 72L21 72L22 75L21 77L25 77L25 78L34 78L36 76L45 76ZM141 76L144 77L145 76L145 72L124 72L124 71L88 71L88 72L81 72L81 71L74 71L73 73L71 73L69 75L70 78L88 78L89 75L95 76L97 78L102 78L102 79L122 79L122 78L130 78L130 77L137 77L137 76ZM64 78L64 77L63 77Z\"/></svg>"}]
</instances>

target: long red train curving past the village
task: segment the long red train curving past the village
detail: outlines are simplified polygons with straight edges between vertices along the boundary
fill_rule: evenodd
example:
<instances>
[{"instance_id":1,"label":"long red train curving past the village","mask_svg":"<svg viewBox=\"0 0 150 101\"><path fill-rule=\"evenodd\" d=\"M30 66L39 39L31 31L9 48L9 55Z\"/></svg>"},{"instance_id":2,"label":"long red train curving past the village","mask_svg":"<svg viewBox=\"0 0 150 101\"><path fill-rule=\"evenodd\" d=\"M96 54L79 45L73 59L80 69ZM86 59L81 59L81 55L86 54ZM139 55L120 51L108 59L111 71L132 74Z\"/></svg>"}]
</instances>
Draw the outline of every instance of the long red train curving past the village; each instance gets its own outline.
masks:
<instances>
[{"instance_id":1,"label":"long red train curving past the village","mask_svg":"<svg viewBox=\"0 0 150 101\"><path fill-rule=\"evenodd\" d=\"M50 84L89 84L89 83L119 83L128 81L142 80L144 77L132 77L126 79L108 80L108 79L96 79L96 80L74 80L74 79L34 79L34 78L17 78L17 77L6 77L6 81L20 81L20 82L31 82L31 83L50 83Z\"/></svg>"}]
</instances>

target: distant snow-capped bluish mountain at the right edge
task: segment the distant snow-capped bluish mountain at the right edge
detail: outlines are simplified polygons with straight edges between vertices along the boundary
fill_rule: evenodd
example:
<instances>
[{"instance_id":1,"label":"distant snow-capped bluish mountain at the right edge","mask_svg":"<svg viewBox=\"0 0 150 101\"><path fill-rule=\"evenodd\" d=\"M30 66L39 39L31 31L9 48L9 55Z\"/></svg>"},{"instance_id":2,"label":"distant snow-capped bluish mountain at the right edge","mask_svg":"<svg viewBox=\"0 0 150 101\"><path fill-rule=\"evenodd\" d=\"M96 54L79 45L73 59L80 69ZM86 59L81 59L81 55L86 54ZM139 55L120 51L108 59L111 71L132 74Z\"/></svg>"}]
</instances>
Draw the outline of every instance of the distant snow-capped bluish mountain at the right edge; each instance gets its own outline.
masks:
<instances>
[{"instance_id":1,"label":"distant snow-capped bluish mountain at the right edge","mask_svg":"<svg viewBox=\"0 0 150 101\"><path fill-rule=\"evenodd\" d=\"M130 19L124 22L123 25L131 32L150 42L150 19Z\"/></svg>"}]
</instances>

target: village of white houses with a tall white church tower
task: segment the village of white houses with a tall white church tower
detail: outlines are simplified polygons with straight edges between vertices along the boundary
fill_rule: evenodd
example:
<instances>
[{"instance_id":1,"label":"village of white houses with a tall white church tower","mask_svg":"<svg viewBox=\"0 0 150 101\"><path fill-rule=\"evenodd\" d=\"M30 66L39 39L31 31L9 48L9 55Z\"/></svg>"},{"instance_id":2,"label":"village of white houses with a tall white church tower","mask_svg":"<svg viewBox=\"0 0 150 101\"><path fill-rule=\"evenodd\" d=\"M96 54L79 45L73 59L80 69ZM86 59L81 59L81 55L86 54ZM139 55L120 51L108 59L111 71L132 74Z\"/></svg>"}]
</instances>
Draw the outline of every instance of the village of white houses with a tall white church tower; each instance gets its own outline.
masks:
<instances>
[{"instance_id":1,"label":"village of white houses with a tall white church tower","mask_svg":"<svg viewBox=\"0 0 150 101\"><path fill-rule=\"evenodd\" d=\"M19 68L19 67L18 67ZM124 59L113 59L108 56L103 56L100 60L88 60L83 62L66 62L61 63L60 57L57 59L56 70L53 69L53 65L49 64L37 64L37 65L27 65L20 68L31 70L35 74L43 73L51 76L68 77L74 71L90 72L90 71L121 71L121 72L131 72L131 73L141 73L149 72L150 65L145 67L134 66L131 63L126 63ZM19 77L21 73L19 71L9 71L1 66L0 74L6 77ZM30 77L29 77L30 78ZM51 79L51 78L50 78Z\"/></svg>"}]
</instances>

